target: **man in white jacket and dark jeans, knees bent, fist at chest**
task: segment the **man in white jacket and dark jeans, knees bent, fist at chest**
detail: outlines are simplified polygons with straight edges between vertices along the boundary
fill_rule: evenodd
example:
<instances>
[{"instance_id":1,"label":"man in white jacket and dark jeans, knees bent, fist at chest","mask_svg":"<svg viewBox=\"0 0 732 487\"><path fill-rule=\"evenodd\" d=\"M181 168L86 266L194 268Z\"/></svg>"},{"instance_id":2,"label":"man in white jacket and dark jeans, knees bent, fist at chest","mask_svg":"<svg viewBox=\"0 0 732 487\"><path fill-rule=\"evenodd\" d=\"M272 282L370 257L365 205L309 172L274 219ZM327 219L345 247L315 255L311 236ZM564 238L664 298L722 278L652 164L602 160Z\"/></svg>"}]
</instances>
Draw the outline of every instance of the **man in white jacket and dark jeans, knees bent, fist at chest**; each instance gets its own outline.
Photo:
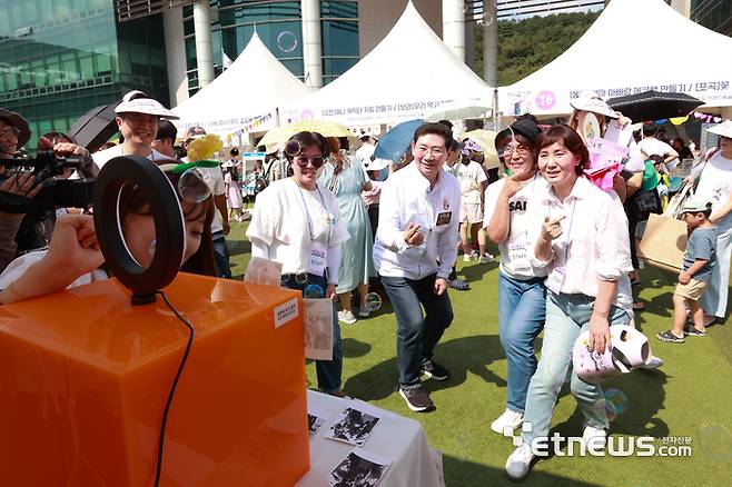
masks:
<instances>
[{"instance_id":1,"label":"man in white jacket and dark jeans, knees bent, fist at chest","mask_svg":"<svg viewBox=\"0 0 732 487\"><path fill-rule=\"evenodd\" d=\"M452 139L439 123L416 130L414 162L392 175L382 190L374 244L374 264L397 318L399 395L413 411L434 408L422 374L449 377L432 357L453 320L447 278L457 258L461 189L443 170Z\"/></svg>"}]
</instances>

